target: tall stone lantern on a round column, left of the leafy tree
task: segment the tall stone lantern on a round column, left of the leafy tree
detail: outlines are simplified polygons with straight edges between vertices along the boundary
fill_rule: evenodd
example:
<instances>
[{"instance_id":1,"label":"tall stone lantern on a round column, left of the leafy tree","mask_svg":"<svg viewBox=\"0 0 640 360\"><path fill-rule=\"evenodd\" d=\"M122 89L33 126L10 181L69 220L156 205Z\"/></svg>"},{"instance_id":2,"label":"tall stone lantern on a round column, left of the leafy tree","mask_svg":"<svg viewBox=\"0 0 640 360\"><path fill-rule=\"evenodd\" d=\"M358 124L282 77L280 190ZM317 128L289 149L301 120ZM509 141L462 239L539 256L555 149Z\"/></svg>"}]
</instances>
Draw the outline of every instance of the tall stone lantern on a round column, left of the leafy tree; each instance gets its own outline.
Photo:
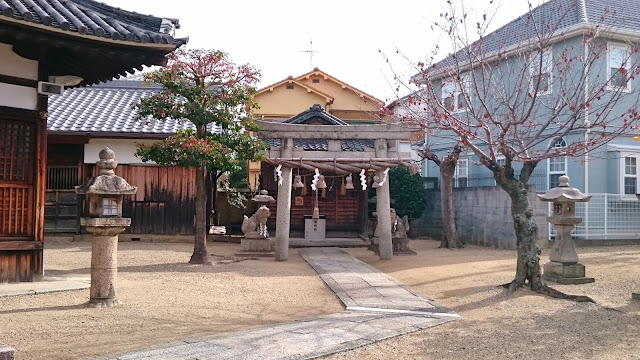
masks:
<instances>
[{"instance_id":1,"label":"tall stone lantern on a round column, left of the leafy tree","mask_svg":"<svg viewBox=\"0 0 640 360\"><path fill-rule=\"evenodd\" d=\"M124 195L135 194L137 190L125 179L115 175L113 170L118 163L111 149L104 148L98 156L98 176L89 179L82 186L76 186L76 193L85 195L89 206L89 216L80 218L80 225L93 235L89 295L91 307L120 304L116 297L118 234L131 225L130 218L122 217L122 199Z\"/></svg>"}]
</instances>

